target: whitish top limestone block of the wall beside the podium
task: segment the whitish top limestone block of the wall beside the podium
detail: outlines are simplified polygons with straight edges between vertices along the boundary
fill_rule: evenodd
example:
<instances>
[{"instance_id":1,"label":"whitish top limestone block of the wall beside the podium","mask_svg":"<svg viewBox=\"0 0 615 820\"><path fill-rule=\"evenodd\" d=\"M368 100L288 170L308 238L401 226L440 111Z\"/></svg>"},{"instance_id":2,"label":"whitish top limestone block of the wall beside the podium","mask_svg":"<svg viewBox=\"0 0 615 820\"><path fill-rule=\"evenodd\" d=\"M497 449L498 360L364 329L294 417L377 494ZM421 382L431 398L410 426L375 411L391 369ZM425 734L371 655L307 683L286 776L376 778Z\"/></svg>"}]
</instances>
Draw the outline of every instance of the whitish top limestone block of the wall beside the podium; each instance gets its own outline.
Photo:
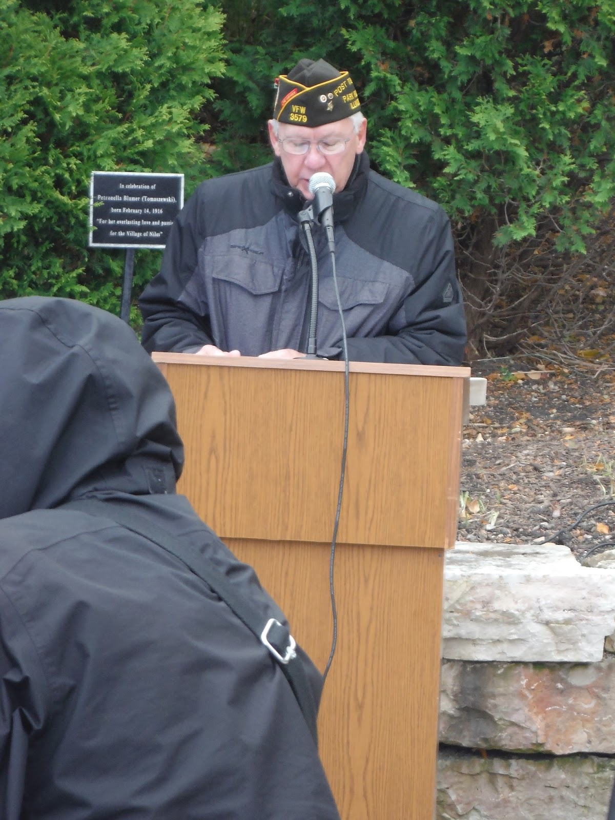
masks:
<instances>
[{"instance_id":1,"label":"whitish top limestone block of the wall beside the podium","mask_svg":"<svg viewBox=\"0 0 615 820\"><path fill-rule=\"evenodd\" d=\"M443 655L477 661L599 661L615 627L615 570L558 544L458 543L444 570Z\"/></svg>"}]
</instances>

